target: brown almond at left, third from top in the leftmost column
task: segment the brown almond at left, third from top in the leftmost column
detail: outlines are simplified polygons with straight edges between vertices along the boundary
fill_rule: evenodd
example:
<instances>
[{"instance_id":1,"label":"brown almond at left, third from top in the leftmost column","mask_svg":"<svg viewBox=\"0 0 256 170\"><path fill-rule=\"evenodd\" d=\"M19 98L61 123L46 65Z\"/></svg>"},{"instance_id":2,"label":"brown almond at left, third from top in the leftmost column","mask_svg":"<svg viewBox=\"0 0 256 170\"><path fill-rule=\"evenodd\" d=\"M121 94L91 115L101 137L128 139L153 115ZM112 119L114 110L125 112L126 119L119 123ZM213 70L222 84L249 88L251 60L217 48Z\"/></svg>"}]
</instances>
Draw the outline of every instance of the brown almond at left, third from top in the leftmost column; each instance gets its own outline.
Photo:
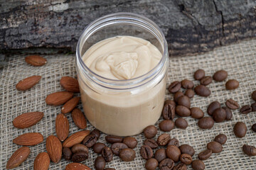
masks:
<instances>
[{"instance_id":1,"label":"brown almond at left, third from top in the leftmost column","mask_svg":"<svg viewBox=\"0 0 256 170\"><path fill-rule=\"evenodd\" d=\"M24 129L29 128L39 122L43 118L43 112L28 112L18 115L13 120L15 128Z\"/></svg>"}]
</instances>

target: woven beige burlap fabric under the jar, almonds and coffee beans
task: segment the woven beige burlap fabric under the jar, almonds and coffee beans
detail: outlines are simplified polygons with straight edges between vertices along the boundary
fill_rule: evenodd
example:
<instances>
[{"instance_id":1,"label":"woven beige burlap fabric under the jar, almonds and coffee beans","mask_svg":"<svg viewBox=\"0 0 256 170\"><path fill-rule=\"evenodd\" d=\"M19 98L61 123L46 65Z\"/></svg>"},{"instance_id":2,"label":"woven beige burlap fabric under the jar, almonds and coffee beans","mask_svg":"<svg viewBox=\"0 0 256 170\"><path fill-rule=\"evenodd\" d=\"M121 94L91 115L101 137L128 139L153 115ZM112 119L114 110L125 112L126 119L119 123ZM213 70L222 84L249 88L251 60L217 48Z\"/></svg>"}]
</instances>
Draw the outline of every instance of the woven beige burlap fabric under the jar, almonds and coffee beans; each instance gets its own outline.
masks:
<instances>
[{"instance_id":1,"label":"woven beige burlap fabric under the jar, almonds and coffee beans","mask_svg":"<svg viewBox=\"0 0 256 170\"><path fill-rule=\"evenodd\" d=\"M5 169L6 162L11 154L21 146L13 144L12 140L26 132L41 132L44 141L36 146L30 147L31 154L28 159L16 169L33 169L33 160L39 152L46 152L46 137L55 135L55 117L60 113L60 106L48 106L45 99L48 94L55 91L62 91L59 81L63 76L75 77L75 55L47 55L48 63L43 67L31 67L24 61L24 55L14 55L8 58L8 65L0 70L0 167ZM225 81L213 81L208 87L211 95L207 98L194 96L191 99L191 107L200 107L206 113L208 104L212 101L219 101L224 106L228 98L238 101L240 106L252 103L250 94L256 90L256 40L243 41L235 45L220 47L204 55L192 57L171 57L169 67L168 84L171 81L182 79L193 80L193 72L196 69L204 69L206 75L212 76L218 69L228 71L228 79L237 79L240 86L234 91L225 90ZM23 78L32 75L41 75L41 81L28 91L17 91L15 86ZM198 81L194 81L198 84ZM166 98L173 98L166 90ZM82 108L81 104L79 105ZM21 113L31 111L43 111L43 119L31 128L19 130L14 128L12 120ZM66 114L70 123L70 134L78 132L79 129L73 123L70 113ZM159 120L161 121L162 118ZM206 149L206 144L214 139L220 132L228 136L228 141L223 146L223 152L212 154L204 161L206 169L256 169L256 157L247 157L242 152L242 145L256 146L256 133L250 129L256 123L256 114L249 113L242 115L239 110L233 111L233 118L223 123L215 123L210 130L198 128L198 120L186 118L188 128L181 130L175 128L168 132L171 137L176 137L181 144L191 145L196 154L193 159L197 159L198 153ZM242 139L235 137L233 126L236 122L242 121L247 125L247 134ZM159 122L156 123L158 126ZM92 130L92 125L87 124L87 129ZM159 130L156 137L161 132ZM106 167L115 169L144 169L145 160L139 155L139 148L145 140L144 135L135 136L138 145L135 148L136 159L133 162L122 162L119 157L114 156L114 160L107 163ZM156 139L155 137L155 139ZM101 135L100 142L105 142L105 134ZM90 149L90 158L83 164L93 169L94 160L97 154ZM65 169L65 165L70 162L61 160L58 164L50 163L50 169ZM188 166L191 169L191 166Z\"/></svg>"}]
</instances>

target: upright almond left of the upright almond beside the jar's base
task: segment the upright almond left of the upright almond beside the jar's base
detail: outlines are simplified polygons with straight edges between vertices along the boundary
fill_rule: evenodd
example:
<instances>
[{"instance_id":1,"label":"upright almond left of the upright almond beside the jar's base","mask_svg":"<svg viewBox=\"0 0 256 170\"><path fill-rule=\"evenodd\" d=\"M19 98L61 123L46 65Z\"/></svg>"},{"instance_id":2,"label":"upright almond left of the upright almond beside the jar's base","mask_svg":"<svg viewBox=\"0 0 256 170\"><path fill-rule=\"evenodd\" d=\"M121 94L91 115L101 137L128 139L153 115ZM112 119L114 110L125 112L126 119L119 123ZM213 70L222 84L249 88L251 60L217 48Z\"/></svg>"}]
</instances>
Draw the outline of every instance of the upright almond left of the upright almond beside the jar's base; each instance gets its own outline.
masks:
<instances>
[{"instance_id":1,"label":"upright almond left of the upright almond beside the jar's base","mask_svg":"<svg viewBox=\"0 0 256 170\"><path fill-rule=\"evenodd\" d=\"M55 130L60 141L64 141L68 137L69 123L68 118L63 114L58 114L55 120Z\"/></svg>"}]
</instances>

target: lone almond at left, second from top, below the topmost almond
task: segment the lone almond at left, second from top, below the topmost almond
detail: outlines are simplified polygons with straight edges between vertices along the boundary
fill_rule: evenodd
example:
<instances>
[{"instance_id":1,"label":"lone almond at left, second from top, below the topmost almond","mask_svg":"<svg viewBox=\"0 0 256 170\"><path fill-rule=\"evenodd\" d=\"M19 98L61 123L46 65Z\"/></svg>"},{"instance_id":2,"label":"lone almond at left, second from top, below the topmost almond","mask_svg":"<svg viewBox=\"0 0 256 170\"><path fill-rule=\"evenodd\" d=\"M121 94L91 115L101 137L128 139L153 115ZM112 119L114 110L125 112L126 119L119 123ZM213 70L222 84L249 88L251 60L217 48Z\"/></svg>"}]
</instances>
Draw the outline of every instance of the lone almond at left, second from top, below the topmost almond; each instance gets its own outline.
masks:
<instances>
[{"instance_id":1,"label":"lone almond at left, second from top, below the topmost almond","mask_svg":"<svg viewBox=\"0 0 256 170\"><path fill-rule=\"evenodd\" d=\"M31 76L26 79L23 79L16 84L16 89L19 91L26 91L35 86L41 79L41 76Z\"/></svg>"}]
</instances>

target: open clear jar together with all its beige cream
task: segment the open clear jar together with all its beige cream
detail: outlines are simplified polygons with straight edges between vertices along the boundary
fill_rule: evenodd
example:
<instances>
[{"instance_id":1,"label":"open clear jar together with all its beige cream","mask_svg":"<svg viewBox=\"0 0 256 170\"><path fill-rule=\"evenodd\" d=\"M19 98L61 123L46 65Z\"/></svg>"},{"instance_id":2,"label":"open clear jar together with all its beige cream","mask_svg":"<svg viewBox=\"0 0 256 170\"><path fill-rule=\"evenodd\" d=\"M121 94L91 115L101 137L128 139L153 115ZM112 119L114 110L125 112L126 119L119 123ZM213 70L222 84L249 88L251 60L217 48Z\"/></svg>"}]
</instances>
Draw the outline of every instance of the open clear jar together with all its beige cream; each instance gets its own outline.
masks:
<instances>
[{"instance_id":1,"label":"open clear jar together with all its beige cream","mask_svg":"<svg viewBox=\"0 0 256 170\"><path fill-rule=\"evenodd\" d=\"M85 116L110 135L137 135L161 115L169 55L148 18L113 13L90 23L78 41L76 68Z\"/></svg>"}]
</instances>

